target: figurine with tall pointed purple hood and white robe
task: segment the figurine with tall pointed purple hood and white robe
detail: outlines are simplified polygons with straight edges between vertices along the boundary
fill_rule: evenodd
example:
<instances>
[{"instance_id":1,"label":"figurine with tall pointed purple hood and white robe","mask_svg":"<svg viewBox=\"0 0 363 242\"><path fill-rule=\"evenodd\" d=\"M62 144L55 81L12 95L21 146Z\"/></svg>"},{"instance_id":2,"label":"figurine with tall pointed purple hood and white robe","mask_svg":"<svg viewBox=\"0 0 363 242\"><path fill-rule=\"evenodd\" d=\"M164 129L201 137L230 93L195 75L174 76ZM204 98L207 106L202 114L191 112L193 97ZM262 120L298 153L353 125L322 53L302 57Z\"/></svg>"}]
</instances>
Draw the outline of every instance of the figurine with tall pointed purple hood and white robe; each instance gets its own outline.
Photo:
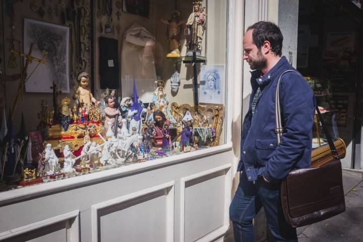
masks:
<instances>
[{"instance_id":1,"label":"figurine with tall pointed purple hood and white robe","mask_svg":"<svg viewBox=\"0 0 363 242\"><path fill-rule=\"evenodd\" d=\"M136 132L140 134L142 127L142 115L146 113L146 108L142 107L139 103L136 84L134 80L134 96L133 96L133 104L130 106L128 111L128 119L129 119L129 133L132 134L133 127L136 127Z\"/></svg>"}]
</instances>

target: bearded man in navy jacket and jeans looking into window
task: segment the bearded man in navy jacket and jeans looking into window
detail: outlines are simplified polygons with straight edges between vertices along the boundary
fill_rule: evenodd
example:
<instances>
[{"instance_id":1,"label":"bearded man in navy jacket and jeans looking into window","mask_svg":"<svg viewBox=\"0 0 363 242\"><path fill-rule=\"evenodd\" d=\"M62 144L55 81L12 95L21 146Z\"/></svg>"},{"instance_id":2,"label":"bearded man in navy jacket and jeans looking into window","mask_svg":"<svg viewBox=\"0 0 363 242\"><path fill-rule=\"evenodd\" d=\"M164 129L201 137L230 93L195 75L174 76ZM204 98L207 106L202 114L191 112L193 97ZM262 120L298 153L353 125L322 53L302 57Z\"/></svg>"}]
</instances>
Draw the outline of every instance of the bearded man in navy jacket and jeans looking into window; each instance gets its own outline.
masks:
<instances>
[{"instance_id":1,"label":"bearded man in navy jacket and jeans looking into window","mask_svg":"<svg viewBox=\"0 0 363 242\"><path fill-rule=\"evenodd\" d=\"M315 99L299 74L288 72L280 83L284 127L277 146L275 91L281 74L295 70L281 57L283 36L271 22L258 22L244 36L244 59L251 69L250 108L241 132L239 185L229 208L235 241L255 241L252 220L264 207L275 241L297 241L296 230L284 219L281 181L292 168L309 167ZM304 182L304 181L301 181Z\"/></svg>"}]
</instances>

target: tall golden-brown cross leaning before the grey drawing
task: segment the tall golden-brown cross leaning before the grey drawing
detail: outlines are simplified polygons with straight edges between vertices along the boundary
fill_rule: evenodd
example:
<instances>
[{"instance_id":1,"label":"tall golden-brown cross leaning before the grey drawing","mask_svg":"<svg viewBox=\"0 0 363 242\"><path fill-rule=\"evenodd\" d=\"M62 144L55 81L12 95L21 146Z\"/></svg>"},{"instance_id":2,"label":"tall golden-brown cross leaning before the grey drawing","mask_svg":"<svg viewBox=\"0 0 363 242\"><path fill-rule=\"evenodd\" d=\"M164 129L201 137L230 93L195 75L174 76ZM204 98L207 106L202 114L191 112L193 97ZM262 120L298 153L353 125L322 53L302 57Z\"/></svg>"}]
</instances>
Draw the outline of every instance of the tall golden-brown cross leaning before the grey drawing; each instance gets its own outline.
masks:
<instances>
[{"instance_id":1,"label":"tall golden-brown cross leaning before the grey drawing","mask_svg":"<svg viewBox=\"0 0 363 242\"><path fill-rule=\"evenodd\" d=\"M14 104L13 104L13 110L12 110L12 119L14 118L15 110L16 110L16 107L18 105L20 95L23 97L23 89L24 89L25 83L29 80L29 78L32 76L32 74L34 73L34 71L37 69L37 67L40 64L48 65L48 62L44 61L44 58L48 56L48 52L44 52L43 58L42 59L39 59L39 58L34 57L34 56L31 55L32 54L32 51L33 51L33 48L34 48L34 44L32 43L30 45L28 54L24 54L24 53L21 53L19 51L14 50L14 49L10 49L10 52L12 54L17 54L19 56L26 57L24 69L23 70L20 69L21 78L20 78L20 83L19 83L18 91L17 91L17 93L15 95L15 98L14 98ZM33 71L28 76L28 73L27 73L28 66L33 61L38 62L38 64L35 66L35 68L33 69ZM21 68L21 66L20 66L20 68Z\"/></svg>"}]
</instances>

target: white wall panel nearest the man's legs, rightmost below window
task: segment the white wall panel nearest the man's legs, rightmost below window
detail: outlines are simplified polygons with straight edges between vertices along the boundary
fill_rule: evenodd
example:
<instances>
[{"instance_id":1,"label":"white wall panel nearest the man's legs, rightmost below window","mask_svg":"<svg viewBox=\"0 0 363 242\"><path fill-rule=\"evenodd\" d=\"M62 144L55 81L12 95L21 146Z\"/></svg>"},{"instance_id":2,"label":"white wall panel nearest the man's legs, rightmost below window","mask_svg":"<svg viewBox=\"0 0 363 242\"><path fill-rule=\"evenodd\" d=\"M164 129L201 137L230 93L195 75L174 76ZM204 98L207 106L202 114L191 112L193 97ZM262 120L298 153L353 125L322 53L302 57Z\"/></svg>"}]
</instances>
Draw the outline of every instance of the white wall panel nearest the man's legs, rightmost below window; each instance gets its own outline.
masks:
<instances>
[{"instance_id":1,"label":"white wall panel nearest the man's legs, rightmost below window","mask_svg":"<svg viewBox=\"0 0 363 242\"><path fill-rule=\"evenodd\" d=\"M228 227L230 167L226 164L181 178L180 241L205 240L212 231ZM217 238L218 231L213 236L209 240Z\"/></svg>"}]
</instances>

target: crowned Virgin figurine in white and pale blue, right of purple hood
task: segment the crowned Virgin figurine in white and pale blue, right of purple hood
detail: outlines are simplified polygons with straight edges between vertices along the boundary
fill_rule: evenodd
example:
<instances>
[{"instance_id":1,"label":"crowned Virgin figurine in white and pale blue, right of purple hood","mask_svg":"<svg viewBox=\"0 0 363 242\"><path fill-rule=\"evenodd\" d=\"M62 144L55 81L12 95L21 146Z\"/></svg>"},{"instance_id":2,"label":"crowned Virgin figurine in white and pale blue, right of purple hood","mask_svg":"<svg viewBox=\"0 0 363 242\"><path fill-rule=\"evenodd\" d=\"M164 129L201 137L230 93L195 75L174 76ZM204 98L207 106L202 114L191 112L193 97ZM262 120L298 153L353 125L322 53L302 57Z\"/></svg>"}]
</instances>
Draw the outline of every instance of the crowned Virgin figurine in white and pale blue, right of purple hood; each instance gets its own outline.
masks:
<instances>
[{"instance_id":1,"label":"crowned Virgin figurine in white and pale blue, right of purple hood","mask_svg":"<svg viewBox=\"0 0 363 242\"><path fill-rule=\"evenodd\" d=\"M158 80L157 85L158 87L153 93L153 97L151 99L152 103L155 105L154 108L164 112L166 119L170 120L172 124L175 124L176 120L173 115L171 115L170 108L168 107L169 98L166 93L164 93L164 82L162 80Z\"/></svg>"}]
</instances>

